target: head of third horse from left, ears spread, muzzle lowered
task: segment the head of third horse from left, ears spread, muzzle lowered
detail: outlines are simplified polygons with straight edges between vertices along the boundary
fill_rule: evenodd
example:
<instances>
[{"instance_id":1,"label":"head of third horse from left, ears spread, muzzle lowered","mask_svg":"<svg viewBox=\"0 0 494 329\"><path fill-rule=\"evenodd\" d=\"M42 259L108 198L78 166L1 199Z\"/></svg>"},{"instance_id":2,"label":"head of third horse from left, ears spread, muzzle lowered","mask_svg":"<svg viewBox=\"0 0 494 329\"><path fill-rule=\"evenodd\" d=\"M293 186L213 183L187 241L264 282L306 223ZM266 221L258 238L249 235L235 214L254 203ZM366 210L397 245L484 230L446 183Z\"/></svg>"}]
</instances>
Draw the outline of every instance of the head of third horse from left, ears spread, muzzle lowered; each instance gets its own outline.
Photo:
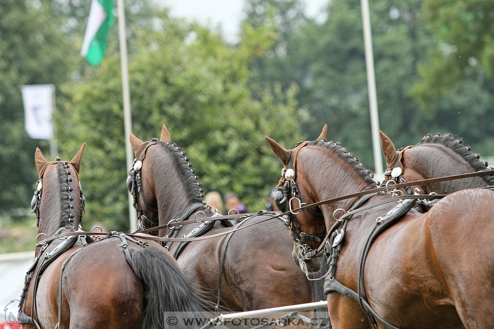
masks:
<instances>
[{"instance_id":1,"label":"head of third horse from left, ears spread, muzzle lowered","mask_svg":"<svg viewBox=\"0 0 494 329\"><path fill-rule=\"evenodd\" d=\"M326 171L319 167L319 159L327 151L319 147L327 143L326 133L325 124L315 141L299 142L293 150L286 150L266 136L271 149L284 165L275 202L281 211L290 210L290 234L294 240L292 258L299 267L308 272L317 272L321 268L324 246L320 246L320 242L326 234L324 214L330 211L330 207L314 207L300 211L296 208L320 201L325 195L321 195L317 189L332 190L331 184L326 183L337 182L332 177L333 174L337 175L336 171L331 170L331 167Z\"/></svg>"}]
</instances>

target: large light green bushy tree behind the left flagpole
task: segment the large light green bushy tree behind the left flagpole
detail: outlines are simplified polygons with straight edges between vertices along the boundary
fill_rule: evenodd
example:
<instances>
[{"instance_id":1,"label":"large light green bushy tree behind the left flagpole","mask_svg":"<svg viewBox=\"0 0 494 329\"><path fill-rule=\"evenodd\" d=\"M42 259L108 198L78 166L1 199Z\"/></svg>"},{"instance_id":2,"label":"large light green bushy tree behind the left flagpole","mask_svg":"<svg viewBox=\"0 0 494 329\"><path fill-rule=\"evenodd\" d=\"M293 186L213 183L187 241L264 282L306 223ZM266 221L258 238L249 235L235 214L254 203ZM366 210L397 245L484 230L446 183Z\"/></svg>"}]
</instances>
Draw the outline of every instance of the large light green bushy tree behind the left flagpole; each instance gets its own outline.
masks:
<instances>
[{"instance_id":1,"label":"large light green bushy tree behind the left flagpole","mask_svg":"<svg viewBox=\"0 0 494 329\"><path fill-rule=\"evenodd\" d=\"M273 31L244 26L241 43L231 47L209 29L169 19L164 11L156 11L153 22L153 28L131 26L139 49L129 68L134 134L159 137L165 123L206 191L234 191L251 210L264 207L280 169L264 134L291 144L298 132L294 88L288 94L264 90L254 99L245 87L249 60L271 45ZM128 230L119 69L117 54L110 53L67 84L57 125L64 127L60 148L88 144L80 175L85 218Z\"/></svg>"}]
</instances>

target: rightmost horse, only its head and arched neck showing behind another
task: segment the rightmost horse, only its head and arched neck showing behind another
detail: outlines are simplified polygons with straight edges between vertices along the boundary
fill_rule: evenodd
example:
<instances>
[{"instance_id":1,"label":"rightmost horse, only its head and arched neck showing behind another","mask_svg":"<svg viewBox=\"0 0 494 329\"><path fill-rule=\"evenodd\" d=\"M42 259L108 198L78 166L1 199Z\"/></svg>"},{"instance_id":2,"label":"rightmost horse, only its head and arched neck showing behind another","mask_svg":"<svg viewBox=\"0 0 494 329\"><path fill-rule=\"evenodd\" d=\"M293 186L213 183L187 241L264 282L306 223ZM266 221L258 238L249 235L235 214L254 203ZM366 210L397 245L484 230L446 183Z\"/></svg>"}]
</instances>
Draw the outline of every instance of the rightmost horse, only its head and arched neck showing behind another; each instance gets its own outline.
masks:
<instances>
[{"instance_id":1,"label":"rightmost horse, only its head and arched neck showing behind another","mask_svg":"<svg viewBox=\"0 0 494 329\"><path fill-rule=\"evenodd\" d=\"M391 139L382 131L380 135L382 151L389 171L387 179L393 178L398 180L397 182L402 182L401 178L405 181L415 181L489 169L486 161L479 160L479 154L472 153L471 148L465 145L462 139L455 138L451 134L428 134L417 144L399 151L396 151ZM400 169L395 172L396 177L391 177L394 168ZM420 193L425 194L432 192L450 194L490 185L494 185L494 179L490 176L482 176L415 186L412 190L418 188Z\"/></svg>"}]
</instances>

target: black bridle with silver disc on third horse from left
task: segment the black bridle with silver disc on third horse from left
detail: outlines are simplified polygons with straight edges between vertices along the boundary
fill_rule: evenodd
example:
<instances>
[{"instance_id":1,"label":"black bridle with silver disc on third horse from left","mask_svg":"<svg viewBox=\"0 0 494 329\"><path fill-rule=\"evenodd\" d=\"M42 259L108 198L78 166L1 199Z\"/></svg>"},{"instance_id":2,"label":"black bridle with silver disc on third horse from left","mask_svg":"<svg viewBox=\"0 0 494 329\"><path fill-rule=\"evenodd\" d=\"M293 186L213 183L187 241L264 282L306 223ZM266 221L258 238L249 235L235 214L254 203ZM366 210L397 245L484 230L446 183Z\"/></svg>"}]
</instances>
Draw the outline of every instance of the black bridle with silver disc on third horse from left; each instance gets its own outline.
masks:
<instances>
[{"instance_id":1,"label":"black bridle with silver disc on third horse from left","mask_svg":"<svg viewBox=\"0 0 494 329\"><path fill-rule=\"evenodd\" d=\"M300 194L298 186L295 182L297 155L298 152L303 147L305 147L305 145L307 145L307 143L308 141L300 141L295 144L295 149L292 150L287 166L281 170L281 179L278 186L276 187L277 191L274 196L274 201L279 210L282 212L288 211L288 227L290 229L292 239L295 244L296 256L299 263L302 265L302 267L305 266L305 268L305 262L309 259L321 257L324 253L328 253L328 248L317 248L317 250L313 250L309 245L303 243L303 241L308 240L316 242L323 241L324 237L326 236L326 229L322 234L308 234L302 232L300 224L297 221L297 217L295 216L299 214L301 210L298 210L298 212L294 211L294 209L301 208L307 205L307 203L303 201L302 195ZM298 203L298 205L293 206L294 202ZM313 215L322 216L322 211L319 206L317 206L316 209L317 210L306 208L305 210L309 211Z\"/></svg>"}]
</instances>

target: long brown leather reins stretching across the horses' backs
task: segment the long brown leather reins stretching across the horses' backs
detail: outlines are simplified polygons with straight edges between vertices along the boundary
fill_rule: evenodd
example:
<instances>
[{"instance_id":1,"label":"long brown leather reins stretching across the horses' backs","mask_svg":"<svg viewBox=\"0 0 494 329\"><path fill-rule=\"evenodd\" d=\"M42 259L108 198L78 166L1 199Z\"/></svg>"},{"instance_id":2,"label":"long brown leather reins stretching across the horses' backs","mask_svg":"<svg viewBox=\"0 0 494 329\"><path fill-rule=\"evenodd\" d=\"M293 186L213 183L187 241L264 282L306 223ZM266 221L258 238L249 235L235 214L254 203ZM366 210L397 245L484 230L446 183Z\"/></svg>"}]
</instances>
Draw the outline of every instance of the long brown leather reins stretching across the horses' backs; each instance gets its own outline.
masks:
<instances>
[{"instance_id":1,"label":"long brown leather reins stretching across the horses' backs","mask_svg":"<svg viewBox=\"0 0 494 329\"><path fill-rule=\"evenodd\" d=\"M479 172L474 172L474 173L468 173L468 174L451 175L451 176L444 176L444 177L438 177L438 178L429 178L429 179L409 181L409 182L405 182L405 183L401 183L401 184L392 185L392 187L393 187L393 189L398 189L398 188L402 188L402 187L405 187L405 186L414 186L414 185L420 185L420 184L430 184L430 183L438 182L438 181L455 180L455 179L471 178L471 177L486 176L486 175L494 175L494 169L485 170L485 171L479 171ZM170 223L170 224L156 226L156 227L153 227L153 228L150 228L150 229L146 229L146 230L135 231L135 232L133 232L131 234L128 234L128 235L130 235L130 236L136 236L136 237L139 237L140 239L153 240L153 241L166 241L166 242L169 242L169 241L193 242L193 241L201 241L201 240L213 239L214 237L226 235L226 234L228 234L230 232L241 230L241 229L250 227L252 225L257 225L259 223L266 222L266 221L272 220L274 218L278 218L278 217L281 217L281 216L284 216L284 215L287 215L289 213L293 213L293 212L296 212L296 211L299 211L299 210L303 210L303 209L307 209L307 208L312 208L312 207L316 207L316 206L321 206L321 205L327 205L327 204L331 204L331 203L338 202L338 201L341 201L341 200L345 200L345 199L349 199L349 198L353 198L353 197L357 197L357 196L362 196L362 195L366 195L366 194L372 194L372 193L382 192L382 191L389 190L389 188L390 188L390 186L384 186L384 187L380 187L380 188L375 188L375 189L370 189L370 190L365 190L365 191L361 191L361 192L351 193L351 194L347 194L347 195L343 195L343 196L339 196L339 197L334 197L334 198L331 198L331 199L326 199L326 200L323 200L323 201L320 201L320 202L316 202L316 203L313 203L313 204L301 206L299 208L291 209L289 211L280 213L278 215L275 215L275 216L271 216L269 218L266 218L266 219L264 219L264 220L262 220L260 222L257 222L257 223L249 224L249 225L246 225L246 226L242 226L240 228L237 228L237 229L232 229L232 230L228 230L228 231L225 231L225 232L216 233L216 234L212 234L212 235L205 235L205 236L200 236L200 237L189 237L189 238L185 238L185 237L144 236L144 235L138 235L138 234L139 233L149 233L149 232L152 232L152 231L156 231L156 230L167 228L168 226L169 227L172 227L172 226L179 226L179 225L190 224L190 223L195 223L195 222L202 223L202 222L206 222L206 221L219 221L219 220L225 220L225 219L229 219L229 218L238 218L238 217L241 217L241 216L251 215L251 214L234 214L234 215L225 215L225 216L217 216L217 217L205 217L205 218L200 218L200 220L197 220L197 219L187 220L187 221L183 221L183 222L180 222L180 223ZM410 195L409 196L397 196L397 197L395 197L395 199L431 198L431 197L433 197L433 196L427 195L427 194L426 195L422 195L421 194L421 195L416 195L416 196L410 196ZM47 243L49 241L55 240L55 239L60 239L60 238L62 238L64 236L81 235L81 234L82 235L107 235L109 233L104 233L104 232L65 232L65 233L61 233L61 234L58 234L58 235L55 235L55 236L51 236L51 237L47 237L46 239L43 239L42 241L40 241L40 242L37 243L37 246L43 245L43 244L45 244L45 243Z\"/></svg>"}]
</instances>

